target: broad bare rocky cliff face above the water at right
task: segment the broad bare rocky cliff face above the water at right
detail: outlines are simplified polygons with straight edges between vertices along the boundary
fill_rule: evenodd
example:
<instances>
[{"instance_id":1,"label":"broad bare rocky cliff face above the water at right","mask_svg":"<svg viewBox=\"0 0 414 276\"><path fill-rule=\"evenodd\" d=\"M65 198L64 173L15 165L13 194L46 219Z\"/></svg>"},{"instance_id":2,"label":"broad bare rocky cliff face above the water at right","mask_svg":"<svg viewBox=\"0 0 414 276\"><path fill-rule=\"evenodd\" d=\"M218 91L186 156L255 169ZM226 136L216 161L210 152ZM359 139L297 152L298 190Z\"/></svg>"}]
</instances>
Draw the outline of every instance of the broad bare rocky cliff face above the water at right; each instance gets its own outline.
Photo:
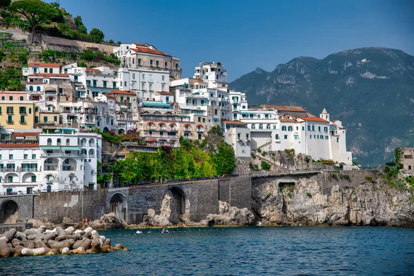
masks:
<instances>
[{"instance_id":1,"label":"broad bare rocky cliff face above the water at right","mask_svg":"<svg viewBox=\"0 0 414 276\"><path fill-rule=\"evenodd\" d=\"M326 189L317 177L297 184L253 182L253 210L264 224L413 226L414 195L381 181ZM339 188L342 186L342 188Z\"/></svg>"}]
</instances>

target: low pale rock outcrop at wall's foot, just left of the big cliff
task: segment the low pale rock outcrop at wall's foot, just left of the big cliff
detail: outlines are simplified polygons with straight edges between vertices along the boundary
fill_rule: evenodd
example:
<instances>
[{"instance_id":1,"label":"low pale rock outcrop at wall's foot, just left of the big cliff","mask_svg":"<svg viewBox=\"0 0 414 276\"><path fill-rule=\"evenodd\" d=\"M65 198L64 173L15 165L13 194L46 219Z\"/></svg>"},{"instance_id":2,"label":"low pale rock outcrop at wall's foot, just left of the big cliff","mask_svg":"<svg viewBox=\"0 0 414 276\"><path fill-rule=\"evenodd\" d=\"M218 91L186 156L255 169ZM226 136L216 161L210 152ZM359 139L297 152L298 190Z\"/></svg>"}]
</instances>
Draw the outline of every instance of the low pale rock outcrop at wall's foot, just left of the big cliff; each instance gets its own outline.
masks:
<instances>
[{"instance_id":1,"label":"low pale rock outcrop at wall's foot, just left of the big cliff","mask_svg":"<svg viewBox=\"0 0 414 276\"><path fill-rule=\"evenodd\" d=\"M209 214L202 221L205 225L252 225L255 216L247 208L239 209L227 202L219 201L219 214Z\"/></svg>"}]
</instances>

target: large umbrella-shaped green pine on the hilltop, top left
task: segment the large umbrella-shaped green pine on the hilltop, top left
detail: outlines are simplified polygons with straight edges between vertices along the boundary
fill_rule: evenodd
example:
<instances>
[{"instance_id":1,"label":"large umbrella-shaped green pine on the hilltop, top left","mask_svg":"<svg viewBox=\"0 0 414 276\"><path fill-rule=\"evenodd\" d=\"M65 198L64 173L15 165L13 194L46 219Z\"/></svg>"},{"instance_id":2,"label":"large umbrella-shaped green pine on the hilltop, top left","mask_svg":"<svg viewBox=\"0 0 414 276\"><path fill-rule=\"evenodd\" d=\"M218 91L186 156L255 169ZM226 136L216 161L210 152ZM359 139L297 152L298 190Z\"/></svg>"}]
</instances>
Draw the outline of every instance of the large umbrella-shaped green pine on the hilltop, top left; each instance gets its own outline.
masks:
<instances>
[{"instance_id":1,"label":"large umbrella-shaped green pine on the hilltop, top left","mask_svg":"<svg viewBox=\"0 0 414 276\"><path fill-rule=\"evenodd\" d=\"M26 17L30 28L32 28L32 43L34 41L34 34L43 19L51 21L63 22L63 14L61 10L51 6L40 0L21 0L13 2L10 10L19 12L23 17Z\"/></svg>"}]
</instances>

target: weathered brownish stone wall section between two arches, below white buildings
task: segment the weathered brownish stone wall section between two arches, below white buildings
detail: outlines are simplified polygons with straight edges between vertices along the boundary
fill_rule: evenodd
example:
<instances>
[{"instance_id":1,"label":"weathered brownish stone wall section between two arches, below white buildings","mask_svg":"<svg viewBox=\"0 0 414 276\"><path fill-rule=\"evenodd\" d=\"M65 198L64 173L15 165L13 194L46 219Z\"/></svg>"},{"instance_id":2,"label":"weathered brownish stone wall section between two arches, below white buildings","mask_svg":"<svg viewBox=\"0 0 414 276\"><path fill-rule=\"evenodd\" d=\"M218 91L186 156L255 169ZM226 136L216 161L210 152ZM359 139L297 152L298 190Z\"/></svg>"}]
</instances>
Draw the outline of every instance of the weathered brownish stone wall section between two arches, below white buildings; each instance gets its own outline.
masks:
<instances>
[{"instance_id":1,"label":"weathered brownish stone wall section between two arches, below white buildings","mask_svg":"<svg viewBox=\"0 0 414 276\"><path fill-rule=\"evenodd\" d=\"M99 219L106 210L107 190L41 193L34 198L34 219L61 224L63 217L75 222Z\"/></svg>"}]
</instances>

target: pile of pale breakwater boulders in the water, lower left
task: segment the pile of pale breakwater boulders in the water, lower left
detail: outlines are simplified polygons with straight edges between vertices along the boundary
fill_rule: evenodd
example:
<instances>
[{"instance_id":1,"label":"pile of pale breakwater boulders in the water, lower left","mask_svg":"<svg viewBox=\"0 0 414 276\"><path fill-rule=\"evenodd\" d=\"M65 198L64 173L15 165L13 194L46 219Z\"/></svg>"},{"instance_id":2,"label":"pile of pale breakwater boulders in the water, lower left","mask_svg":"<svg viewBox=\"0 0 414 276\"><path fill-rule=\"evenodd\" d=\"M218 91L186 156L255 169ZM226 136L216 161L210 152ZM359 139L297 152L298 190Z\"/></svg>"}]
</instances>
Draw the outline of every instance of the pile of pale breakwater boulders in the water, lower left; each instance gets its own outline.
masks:
<instances>
[{"instance_id":1,"label":"pile of pale breakwater boulders in the water, lower left","mask_svg":"<svg viewBox=\"0 0 414 276\"><path fill-rule=\"evenodd\" d=\"M108 253L113 250L125 250L125 248L121 244L112 247L110 239L99 235L91 227L75 230L72 226L66 229L58 226L53 230L46 230L45 226L40 226L24 232L12 228L0 235L0 257L4 258Z\"/></svg>"}]
</instances>

